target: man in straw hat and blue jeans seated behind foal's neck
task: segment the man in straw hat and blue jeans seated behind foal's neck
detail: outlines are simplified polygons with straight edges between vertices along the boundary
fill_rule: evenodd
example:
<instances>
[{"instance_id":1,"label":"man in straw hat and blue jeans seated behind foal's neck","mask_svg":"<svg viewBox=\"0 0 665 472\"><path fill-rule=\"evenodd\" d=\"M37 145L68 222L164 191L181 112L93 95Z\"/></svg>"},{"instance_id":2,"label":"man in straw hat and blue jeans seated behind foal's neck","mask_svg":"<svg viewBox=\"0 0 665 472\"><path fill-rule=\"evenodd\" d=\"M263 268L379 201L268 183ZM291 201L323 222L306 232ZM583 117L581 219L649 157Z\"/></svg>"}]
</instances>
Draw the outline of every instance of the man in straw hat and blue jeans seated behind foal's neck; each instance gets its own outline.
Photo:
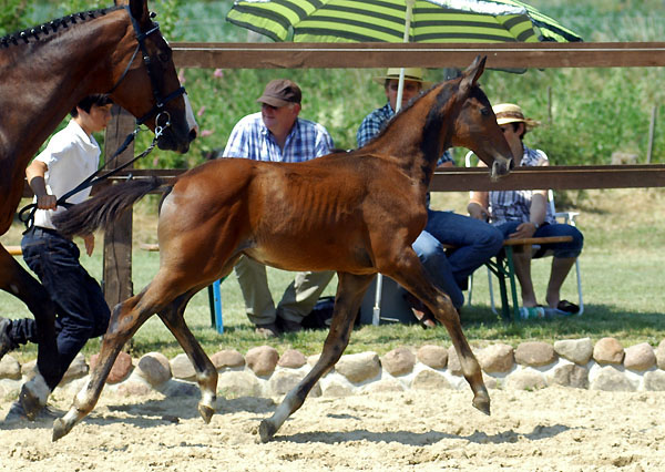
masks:
<instances>
[{"instance_id":1,"label":"man in straw hat and blue jeans seated behind foal's neck","mask_svg":"<svg viewBox=\"0 0 665 472\"><path fill-rule=\"evenodd\" d=\"M405 84L401 107L417 98L423 88L431 85L423 79L423 70L418 68L405 69ZM375 137L395 115L397 103L399 69L388 69L386 75L375 78L383 85L388 103L368 114L356 134L358 147L364 146ZM454 162L446 151L439 161L439 166L452 166ZM458 215L453 212L437 212L429 207L427 199L428 220L424 230L413 242L413 250L434 277L439 287L446 291L458 309L464 304L462 289L467 288L467 279L473 271L494 256L503 244L501 232L489 224ZM454 246L454 250L446 254L443 244ZM405 298L411 305L413 316L424 328L433 327L434 320L427 307L405 290Z\"/></svg>"}]
</instances>

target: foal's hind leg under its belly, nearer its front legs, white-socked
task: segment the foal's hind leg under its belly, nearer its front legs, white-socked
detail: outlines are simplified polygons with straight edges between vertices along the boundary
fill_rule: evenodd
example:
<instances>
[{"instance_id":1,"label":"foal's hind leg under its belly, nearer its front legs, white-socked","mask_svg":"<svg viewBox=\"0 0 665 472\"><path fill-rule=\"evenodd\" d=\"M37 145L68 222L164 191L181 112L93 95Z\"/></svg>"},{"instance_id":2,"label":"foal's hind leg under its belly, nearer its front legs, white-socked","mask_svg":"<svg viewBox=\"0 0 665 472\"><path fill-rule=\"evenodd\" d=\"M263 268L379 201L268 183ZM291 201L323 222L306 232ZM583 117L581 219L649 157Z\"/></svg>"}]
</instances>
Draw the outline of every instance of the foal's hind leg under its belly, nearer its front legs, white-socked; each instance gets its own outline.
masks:
<instances>
[{"instance_id":1,"label":"foal's hind leg under its belly, nearer its front legs, white-socked","mask_svg":"<svg viewBox=\"0 0 665 472\"><path fill-rule=\"evenodd\" d=\"M207 357L190 328L185 324L183 314L187 301L192 298L196 290L182 295L171 302L166 308L158 312L164 325L171 330L177 342L183 347L184 351L194 366L196 371L196 380L201 389L201 401L198 402L198 412L206 423L211 422L215 413L215 403L217 401L217 369Z\"/></svg>"}]
</instances>

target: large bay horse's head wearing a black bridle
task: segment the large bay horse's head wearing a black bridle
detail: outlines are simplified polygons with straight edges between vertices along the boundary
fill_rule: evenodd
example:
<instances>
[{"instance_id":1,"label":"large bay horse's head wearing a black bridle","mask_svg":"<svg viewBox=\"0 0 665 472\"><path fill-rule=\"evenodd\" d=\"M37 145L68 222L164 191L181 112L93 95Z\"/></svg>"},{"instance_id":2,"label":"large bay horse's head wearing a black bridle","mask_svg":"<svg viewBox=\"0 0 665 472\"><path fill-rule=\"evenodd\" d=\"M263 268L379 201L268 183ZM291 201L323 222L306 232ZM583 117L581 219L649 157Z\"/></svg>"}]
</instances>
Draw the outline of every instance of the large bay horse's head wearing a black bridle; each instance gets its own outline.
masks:
<instances>
[{"instance_id":1,"label":"large bay horse's head wearing a black bridle","mask_svg":"<svg viewBox=\"0 0 665 472\"><path fill-rule=\"evenodd\" d=\"M126 0L115 3L127 6ZM125 8L133 28L127 29L113 58L111 96L157 134L160 148L185 153L196 137L196 122L171 48L151 20L146 0L130 0Z\"/></svg>"}]
</instances>

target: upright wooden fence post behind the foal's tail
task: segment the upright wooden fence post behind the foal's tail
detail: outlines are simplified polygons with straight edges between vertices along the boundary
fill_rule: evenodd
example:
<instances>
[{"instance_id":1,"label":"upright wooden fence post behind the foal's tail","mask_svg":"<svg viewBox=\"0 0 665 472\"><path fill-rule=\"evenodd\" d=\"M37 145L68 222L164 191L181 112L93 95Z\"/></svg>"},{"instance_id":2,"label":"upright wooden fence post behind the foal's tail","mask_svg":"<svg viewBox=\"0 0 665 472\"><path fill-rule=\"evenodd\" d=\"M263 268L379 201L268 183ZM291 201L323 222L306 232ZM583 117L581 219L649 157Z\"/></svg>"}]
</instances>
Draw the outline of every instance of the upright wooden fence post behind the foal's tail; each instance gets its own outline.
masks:
<instances>
[{"instance_id":1,"label":"upright wooden fence post behind the foal's tail","mask_svg":"<svg viewBox=\"0 0 665 472\"><path fill-rule=\"evenodd\" d=\"M113 105L111 115L104 142L104 161L108 168L115 168L134 156L134 143L132 142L113 162L108 162L124 142L126 135L134 130L135 120L134 116L117 105ZM131 208L104 232L104 264L102 270L104 298L111 308L133 295Z\"/></svg>"}]
</instances>

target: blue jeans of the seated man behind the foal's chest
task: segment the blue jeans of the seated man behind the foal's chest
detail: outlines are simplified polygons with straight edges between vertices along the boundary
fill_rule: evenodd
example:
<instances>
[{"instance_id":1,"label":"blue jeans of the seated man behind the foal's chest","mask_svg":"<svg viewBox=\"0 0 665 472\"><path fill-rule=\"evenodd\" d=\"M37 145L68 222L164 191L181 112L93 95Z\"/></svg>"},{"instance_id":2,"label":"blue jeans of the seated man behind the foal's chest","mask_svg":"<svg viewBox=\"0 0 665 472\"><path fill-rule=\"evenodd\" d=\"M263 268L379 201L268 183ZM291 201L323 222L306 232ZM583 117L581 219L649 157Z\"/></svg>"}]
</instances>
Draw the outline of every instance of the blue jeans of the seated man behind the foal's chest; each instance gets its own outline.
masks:
<instances>
[{"instance_id":1,"label":"blue jeans of the seated man behind the foal's chest","mask_svg":"<svg viewBox=\"0 0 665 472\"><path fill-rule=\"evenodd\" d=\"M462 288L467 288L469 276L499 253L503 235L488 223L452 212L428 209L427 216L427 225L413 242L413 250L434 284L460 308L464 304ZM456 249L446 254L442 244Z\"/></svg>"}]
</instances>

